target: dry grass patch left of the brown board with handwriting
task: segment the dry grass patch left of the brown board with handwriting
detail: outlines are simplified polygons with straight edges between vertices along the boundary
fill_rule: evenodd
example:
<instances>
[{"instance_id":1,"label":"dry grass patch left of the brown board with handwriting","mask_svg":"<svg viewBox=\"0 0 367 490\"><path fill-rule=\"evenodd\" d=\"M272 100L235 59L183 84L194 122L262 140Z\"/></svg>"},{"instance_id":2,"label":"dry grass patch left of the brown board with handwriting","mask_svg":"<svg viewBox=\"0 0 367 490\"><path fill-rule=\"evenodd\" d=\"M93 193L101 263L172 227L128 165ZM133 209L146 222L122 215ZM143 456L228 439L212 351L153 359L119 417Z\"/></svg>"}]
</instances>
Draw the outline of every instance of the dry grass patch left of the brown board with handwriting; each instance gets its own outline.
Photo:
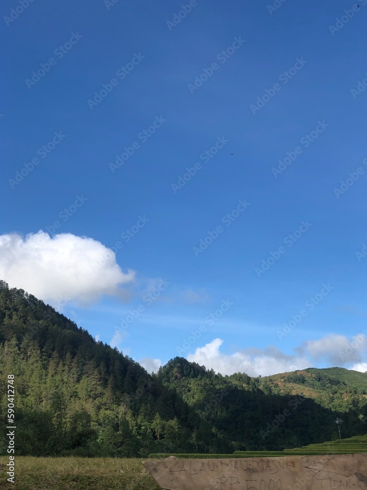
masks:
<instances>
[{"instance_id":1,"label":"dry grass patch left of the brown board with handwriting","mask_svg":"<svg viewBox=\"0 0 367 490\"><path fill-rule=\"evenodd\" d=\"M142 459L15 458L15 484L6 481L0 457L0 490L161 490Z\"/></svg>"}]
</instances>

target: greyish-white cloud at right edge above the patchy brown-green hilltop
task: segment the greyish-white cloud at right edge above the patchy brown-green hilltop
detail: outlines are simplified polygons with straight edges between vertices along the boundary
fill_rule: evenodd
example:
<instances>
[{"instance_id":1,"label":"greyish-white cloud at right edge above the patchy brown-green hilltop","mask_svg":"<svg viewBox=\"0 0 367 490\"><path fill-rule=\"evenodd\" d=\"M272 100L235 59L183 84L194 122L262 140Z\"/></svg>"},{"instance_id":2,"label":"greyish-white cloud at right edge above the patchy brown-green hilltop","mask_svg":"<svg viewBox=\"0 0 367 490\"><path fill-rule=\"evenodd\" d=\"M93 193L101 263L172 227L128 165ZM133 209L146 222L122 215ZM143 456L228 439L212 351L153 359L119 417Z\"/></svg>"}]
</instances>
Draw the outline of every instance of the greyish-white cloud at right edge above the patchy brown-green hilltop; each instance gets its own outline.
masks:
<instances>
[{"instance_id":1,"label":"greyish-white cloud at right edge above the patchy brown-green hilltop","mask_svg":"<svg viewBox=\"0 0 367 490\"><path fill-rule=\"evenodd\" d=\"M305 342L298 352L306 352L315 360L325 360L333 366L344 366L362 361L362 353L366 350L367 338L357 334L349 340L344 335L328 334L319 340Z\"/></svg>"}]
</instances>

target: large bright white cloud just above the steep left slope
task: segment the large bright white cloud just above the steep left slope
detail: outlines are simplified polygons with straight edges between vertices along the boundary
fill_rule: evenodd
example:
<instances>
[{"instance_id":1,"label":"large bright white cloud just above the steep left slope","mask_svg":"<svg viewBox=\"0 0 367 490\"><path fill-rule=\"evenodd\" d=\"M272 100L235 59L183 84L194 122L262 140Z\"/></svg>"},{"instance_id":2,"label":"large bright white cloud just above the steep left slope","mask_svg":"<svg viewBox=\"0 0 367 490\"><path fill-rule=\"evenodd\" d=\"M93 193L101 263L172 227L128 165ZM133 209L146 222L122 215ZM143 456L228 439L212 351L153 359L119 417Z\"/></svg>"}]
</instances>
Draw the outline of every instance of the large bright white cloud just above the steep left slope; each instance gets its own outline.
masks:
<instances>
[{"instance_id":1,"label":"large bright white cloud just above the steep left slope","mask_svg":"<svg viewBox=\"0 0 367 490\"><path fill-rule=\"evenodd\" d=\"M120 295L135 271L122 272L115 254L100 242L71 233L52 238L40 230L23 238L0 235L0 278L52 305L75 300L96 301L104 294Z\"/></svg>"}]
</instances>

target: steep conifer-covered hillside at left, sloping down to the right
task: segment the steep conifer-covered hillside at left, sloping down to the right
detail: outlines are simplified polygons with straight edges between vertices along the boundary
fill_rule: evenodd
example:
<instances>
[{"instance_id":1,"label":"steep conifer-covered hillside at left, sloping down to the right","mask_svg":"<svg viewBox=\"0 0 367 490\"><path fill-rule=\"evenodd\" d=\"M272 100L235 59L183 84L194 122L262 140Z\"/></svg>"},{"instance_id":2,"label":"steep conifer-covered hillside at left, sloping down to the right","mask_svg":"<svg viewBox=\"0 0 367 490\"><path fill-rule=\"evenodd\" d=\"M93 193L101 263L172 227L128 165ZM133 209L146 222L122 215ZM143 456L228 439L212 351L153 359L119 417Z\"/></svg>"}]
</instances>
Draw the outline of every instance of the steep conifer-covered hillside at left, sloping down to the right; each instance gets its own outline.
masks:
<instances>
[{"instance_id":1,"label":"steep conifer-covered hillside at left, sloping down to the right","mask_svg":"<svg viewBox=\"0 0 367 490\"><path fill-rule=\"evenodd\" d=\"M146 456L154 447L188 449L193 431L209 450L210 426L175 392L43 301L1 282L2 419L8 374L15 377L19 455ZM229 441L211 439L230 450Z\"/></svg>"}]
</instances>

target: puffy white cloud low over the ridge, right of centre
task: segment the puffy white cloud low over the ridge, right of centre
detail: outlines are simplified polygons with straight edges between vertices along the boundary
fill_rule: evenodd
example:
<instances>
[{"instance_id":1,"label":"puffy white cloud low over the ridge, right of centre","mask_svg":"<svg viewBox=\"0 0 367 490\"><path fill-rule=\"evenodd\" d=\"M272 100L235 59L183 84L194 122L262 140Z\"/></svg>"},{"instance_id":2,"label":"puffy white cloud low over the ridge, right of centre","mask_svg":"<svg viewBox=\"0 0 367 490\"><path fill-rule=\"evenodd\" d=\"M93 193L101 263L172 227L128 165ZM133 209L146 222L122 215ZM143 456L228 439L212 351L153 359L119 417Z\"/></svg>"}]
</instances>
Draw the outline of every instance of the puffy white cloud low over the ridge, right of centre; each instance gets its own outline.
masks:
<instances>
[{"instance_id":1,"label":"puffy white cloud low over the ridge, right of centre","mask_svg":"<svg viewBox=\"0 0 367 490\"><path fill-rule=\"evenodd\" d=\"M246 372L249 376L268 376L310 367L305 357L287 356L276 347L222 354L219 352L222 343L222 339L214 339L204 347L198 347L194 354L188 354L187 360L204 365L208 369L212 368L223 375Z\"/></svg>"}]
</instances>

